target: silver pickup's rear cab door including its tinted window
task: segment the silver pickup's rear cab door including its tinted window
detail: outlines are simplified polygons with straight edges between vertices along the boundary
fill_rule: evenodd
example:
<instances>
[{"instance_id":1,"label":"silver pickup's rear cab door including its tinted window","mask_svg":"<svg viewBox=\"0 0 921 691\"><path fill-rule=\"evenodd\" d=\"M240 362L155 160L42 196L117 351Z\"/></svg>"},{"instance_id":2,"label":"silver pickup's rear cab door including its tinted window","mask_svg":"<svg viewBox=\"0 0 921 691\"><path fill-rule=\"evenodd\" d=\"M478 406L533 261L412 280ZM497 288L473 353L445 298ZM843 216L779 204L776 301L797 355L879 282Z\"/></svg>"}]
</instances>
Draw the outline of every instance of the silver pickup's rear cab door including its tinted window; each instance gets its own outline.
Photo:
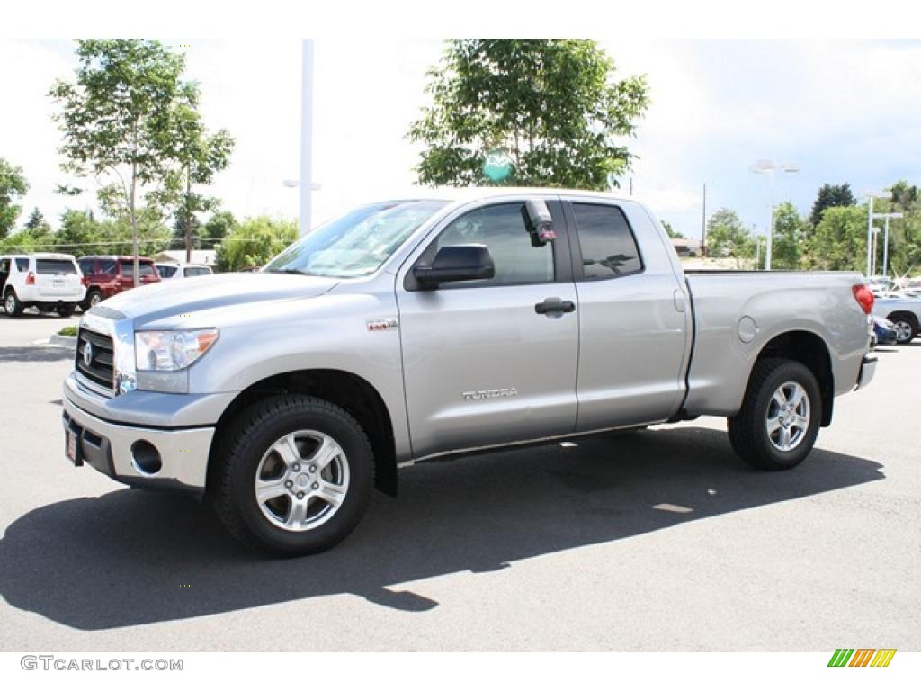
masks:
<instances>
[{"instance_id":1,"label":"silver pickup's rear cab door including its tinted window","mask_svg":"<svg viewBox=\"0 0 921 691\"><path fill-rule=\"evenodd\" d=\"M579 305L578 431L672 416L684 391L690 307L658 228L638 205L573 199Z\"/></svg>"}]
</instances>

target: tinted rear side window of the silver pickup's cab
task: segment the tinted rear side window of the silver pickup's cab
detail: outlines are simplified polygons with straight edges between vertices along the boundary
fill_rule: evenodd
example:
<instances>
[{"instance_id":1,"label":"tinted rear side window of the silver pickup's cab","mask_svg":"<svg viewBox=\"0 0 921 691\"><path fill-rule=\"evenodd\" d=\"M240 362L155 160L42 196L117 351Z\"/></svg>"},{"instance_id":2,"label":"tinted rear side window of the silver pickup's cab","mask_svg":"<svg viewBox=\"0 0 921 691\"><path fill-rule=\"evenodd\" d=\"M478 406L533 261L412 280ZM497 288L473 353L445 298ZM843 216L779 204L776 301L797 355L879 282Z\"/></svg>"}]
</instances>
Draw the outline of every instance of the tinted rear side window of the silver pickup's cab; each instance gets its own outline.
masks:
<instances>
[{"instance_id":1,"label":"tinted rear side window of the silver pickup's cab","mask_svg":"<svg viewBox=\"0 0 921 691\"><path fill-rule=\"evenodd\" d=\"M572 203L584 280L599 281L643 271L643 260L624 212L614 205Z\"/></svg>"}]
</instances>

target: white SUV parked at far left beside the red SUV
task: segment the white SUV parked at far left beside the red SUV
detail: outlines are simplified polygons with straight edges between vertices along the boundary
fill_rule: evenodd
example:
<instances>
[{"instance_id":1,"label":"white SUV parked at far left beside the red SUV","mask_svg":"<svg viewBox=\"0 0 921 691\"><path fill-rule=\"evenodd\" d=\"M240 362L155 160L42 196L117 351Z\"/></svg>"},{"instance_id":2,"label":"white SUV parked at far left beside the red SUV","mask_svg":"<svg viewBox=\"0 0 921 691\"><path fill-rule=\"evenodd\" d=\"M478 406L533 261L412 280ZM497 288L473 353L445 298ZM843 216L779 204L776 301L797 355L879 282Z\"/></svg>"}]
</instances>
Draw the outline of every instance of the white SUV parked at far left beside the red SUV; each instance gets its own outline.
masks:
<instances>
[{"instance_id":1,"label":"white SUV parked at far left beside the red SUV","mask_svg":"<svg viewBox=\"0 0 921 691\"><path fill-rule=\"evenodd\" d=\"M27 307L69 317L87 287L70 254L9 254L0 256L0 294L8 317L18 317Z\"/></svg>"}]
</instances>

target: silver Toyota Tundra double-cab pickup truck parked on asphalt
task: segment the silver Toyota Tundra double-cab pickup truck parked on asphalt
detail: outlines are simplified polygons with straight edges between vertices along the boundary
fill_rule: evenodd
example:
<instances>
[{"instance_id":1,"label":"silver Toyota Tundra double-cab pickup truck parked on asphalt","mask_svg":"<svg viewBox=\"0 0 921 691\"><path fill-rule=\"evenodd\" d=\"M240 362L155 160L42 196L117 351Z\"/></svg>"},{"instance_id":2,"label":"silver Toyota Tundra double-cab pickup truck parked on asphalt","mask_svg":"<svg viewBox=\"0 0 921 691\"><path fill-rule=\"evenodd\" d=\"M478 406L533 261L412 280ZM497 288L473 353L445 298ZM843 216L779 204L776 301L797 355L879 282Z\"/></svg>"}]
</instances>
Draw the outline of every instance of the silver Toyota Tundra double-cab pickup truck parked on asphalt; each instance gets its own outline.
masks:
<instances>
[{"instance_id":1,"label":"silver Toyota Tundra double-cab pickup truck parked on asphalt","mask_svg":"<svg viewBox=\"0 0 921 691\"><path fill-rule=\"evenodd\" d=\"M326 549L397 468L696 416L784 470L866 385L859 274L685 275L604 193L468 189L361 206L256 274L106 300L80 322L65 451L189 490L241 541Z\"/></svg>"}]
</instances>

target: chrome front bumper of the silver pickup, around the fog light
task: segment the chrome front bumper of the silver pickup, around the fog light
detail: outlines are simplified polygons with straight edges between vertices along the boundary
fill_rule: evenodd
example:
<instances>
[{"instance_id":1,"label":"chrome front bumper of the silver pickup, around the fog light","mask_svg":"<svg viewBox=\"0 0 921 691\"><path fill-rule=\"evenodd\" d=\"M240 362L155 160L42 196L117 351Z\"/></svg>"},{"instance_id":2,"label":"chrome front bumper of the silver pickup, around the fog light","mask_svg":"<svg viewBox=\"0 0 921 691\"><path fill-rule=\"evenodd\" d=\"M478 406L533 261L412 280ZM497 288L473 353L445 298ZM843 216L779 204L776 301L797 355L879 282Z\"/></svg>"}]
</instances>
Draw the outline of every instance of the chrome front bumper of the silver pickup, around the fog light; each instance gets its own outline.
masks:
<instances>
[{"instance_id":1,"label":"chrome front bumper of the silver pickup, around the fog light","mask_svg":"<svg viewBox=\"0 0 921 691\"><path fill-rule=\"evenodd\" d=\"M64 431L64 443L68 431L76 438L76 459L68 459L68 463L87 463L125 485L204 492L214 427L152 429L117 425L90 415L64 396ZM160 467L156 472L145 472L138 465L138 441L146 441L157 450ZM144 458L140 454L138 457Z\"/></svg>"}]
</instances>

